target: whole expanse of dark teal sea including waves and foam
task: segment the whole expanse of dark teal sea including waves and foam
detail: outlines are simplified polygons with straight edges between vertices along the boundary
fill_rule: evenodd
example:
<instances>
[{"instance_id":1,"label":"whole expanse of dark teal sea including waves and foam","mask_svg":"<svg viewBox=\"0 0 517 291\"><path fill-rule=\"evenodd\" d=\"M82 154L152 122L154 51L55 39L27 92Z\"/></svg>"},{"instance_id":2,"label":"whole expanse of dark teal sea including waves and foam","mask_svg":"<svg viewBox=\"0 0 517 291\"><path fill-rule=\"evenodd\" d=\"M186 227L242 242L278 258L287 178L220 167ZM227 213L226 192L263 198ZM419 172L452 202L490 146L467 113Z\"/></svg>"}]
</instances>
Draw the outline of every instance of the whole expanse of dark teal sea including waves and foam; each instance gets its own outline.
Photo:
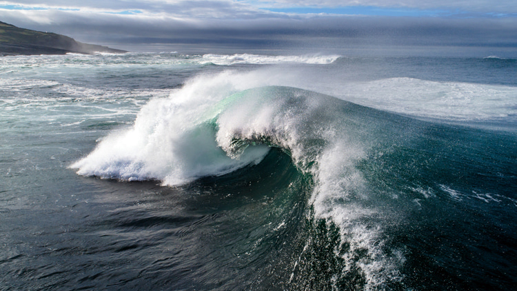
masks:
<instances>
[{"instance_id":1,"label":"whole expanse of dark teal sea including waves and foam","mask_svg":"<svg viewBox=\"0 0 517 291\"><path fill-rule=\"evenodd\" d=\"M516 59L0 64L0 290L517 285Z\"/></svg>"}]
</instances>

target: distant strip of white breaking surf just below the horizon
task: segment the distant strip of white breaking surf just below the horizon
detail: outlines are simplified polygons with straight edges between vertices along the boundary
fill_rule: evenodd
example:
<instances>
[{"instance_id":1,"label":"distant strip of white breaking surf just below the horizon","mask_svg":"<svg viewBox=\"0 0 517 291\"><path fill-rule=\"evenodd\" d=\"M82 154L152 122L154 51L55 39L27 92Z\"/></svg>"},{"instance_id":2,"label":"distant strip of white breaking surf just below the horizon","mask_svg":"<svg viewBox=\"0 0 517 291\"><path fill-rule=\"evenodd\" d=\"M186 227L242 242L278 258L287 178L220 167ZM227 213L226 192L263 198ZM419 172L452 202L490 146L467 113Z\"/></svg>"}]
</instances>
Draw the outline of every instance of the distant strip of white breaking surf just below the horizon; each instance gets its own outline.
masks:
<instances>
[{"instance_id":1,"label":"distant strip of white breaking surf just below the horizon","mask_svg":"<svg viewBox=\"0 0 517 291\"><path fill-rule=\"evenodd\" d=\"M201 63L213 63L229 66L236 63L274 64L274 63L308 63L327 65L334 63L341 56L332 55L300 55L300 56L266 56L259 54L204 54Z\"/></svg>"}]
</instances>

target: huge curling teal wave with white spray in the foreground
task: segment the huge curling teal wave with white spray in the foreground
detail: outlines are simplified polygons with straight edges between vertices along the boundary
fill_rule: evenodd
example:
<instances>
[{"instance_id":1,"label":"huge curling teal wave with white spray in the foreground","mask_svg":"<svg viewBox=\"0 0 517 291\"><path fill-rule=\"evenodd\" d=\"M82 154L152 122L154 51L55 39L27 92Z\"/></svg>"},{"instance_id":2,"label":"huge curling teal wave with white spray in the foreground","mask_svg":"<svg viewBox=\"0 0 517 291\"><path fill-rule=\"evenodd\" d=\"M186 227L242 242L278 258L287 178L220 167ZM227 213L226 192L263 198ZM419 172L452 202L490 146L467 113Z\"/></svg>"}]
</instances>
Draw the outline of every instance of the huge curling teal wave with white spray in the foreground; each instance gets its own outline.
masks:
<instances>
[{"instance_id":1,"label":"huge curling teal wave with white spray in the foreground","mask_svg":"<svg viewBox=\"0 0 517 291\"><path fill-rule=\"evenodd\" d=\"M301 253L290 256L292 273L284 283L307 290L414 284L420 275L408 278L404 270L418 260L408 259L411 250L401 243L403 235L414 234L401 221L423 203L499 197L472 189L472 181L454 182L458 172L469 177L469 171L482 171L479 155L489 146L483 143L491 140L487 134L310 90L267 86L269 80L256 77L254 72L222 72L191 79L170 97L149 101L132 126L112 132L70 167L85 176L157 180L178 187L203 177L245 175L245 169L287 154L298 176L308 178L301 184L288 174L278 179L286 179L305 201L307 227L298 237L304 245ZM454 139L447 132L454 132ZM462 143L472 134L480 140L478 148ZM454 150L443 152L446 148ZM465 152L472 159L463 168L456 159ZM278 228L290 223L286 221L278 221Z\"/></svg>"}]
</instances>

